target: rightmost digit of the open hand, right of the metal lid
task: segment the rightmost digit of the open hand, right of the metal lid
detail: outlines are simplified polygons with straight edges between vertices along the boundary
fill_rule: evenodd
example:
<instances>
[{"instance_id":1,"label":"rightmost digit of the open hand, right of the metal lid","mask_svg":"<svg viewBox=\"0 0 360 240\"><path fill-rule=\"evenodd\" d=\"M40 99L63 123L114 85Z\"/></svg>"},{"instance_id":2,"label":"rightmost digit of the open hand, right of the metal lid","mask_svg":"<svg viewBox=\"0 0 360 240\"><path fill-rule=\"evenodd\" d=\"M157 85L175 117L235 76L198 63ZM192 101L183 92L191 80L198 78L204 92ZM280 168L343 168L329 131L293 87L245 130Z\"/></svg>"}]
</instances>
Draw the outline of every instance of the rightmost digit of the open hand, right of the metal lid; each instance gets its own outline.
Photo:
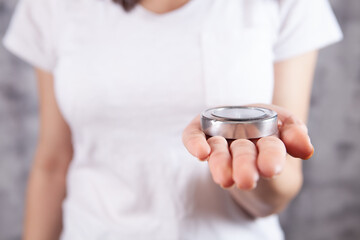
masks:
<instances>
[{"instance_id":1,"label":"rightmost digit of the open hand, right of the metal lid","mask_svg":"<svg viewBox=\"0 0 360 240\"><path fill-rule=\"evenodd\" d=\"M308 130L304 123L293 116L283 121L280 130L280 138L286 146L287 152L297 158L309 159L314 153L314 147L308 136Z\"/></svg>"}]
</instances>

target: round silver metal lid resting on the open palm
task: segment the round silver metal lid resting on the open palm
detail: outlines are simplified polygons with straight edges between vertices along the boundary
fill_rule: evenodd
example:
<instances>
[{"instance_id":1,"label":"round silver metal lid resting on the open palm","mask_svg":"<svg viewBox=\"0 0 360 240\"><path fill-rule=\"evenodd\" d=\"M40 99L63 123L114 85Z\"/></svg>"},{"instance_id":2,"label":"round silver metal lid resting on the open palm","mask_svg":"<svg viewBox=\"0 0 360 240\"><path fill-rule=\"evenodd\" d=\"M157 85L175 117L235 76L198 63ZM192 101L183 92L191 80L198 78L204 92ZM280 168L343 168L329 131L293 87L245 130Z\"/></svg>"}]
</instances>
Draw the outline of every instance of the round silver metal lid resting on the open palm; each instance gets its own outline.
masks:
<instances>
[{"instance_id":1,"label":"round silver metal lid resting on the open palm","mask_svg":"<svg viewBox=\"0 0 360 240\"><path fill-rule=\"evenodd\" d=\"M277 113L260 107L215 107L202 113L201 128L208 136L261 138L277 133Z\"/></svg>"}]
</instances>

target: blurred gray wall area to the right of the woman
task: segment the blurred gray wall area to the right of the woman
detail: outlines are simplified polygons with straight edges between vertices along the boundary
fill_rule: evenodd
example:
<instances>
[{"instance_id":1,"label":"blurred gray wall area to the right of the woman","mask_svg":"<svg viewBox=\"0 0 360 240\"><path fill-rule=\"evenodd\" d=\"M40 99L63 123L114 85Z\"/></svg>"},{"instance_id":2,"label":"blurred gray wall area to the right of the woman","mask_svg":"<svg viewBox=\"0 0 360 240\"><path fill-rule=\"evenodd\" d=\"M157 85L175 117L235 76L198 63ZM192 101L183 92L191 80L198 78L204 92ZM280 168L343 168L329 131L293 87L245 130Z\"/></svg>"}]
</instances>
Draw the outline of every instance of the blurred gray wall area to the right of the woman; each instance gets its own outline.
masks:
<instances>
[{"instance_id":1,"label":"blurred gray wall area to the right of the woman","mask_svg":"<svg viewBox=\"0 0 360 240\"><path fill-rule=\"evenodd\" d=\"M321 52L309 128L315 156L283 215L288 239L360 239L360 1L331 1L345 39Z\"/></svg>"}]
</instances>

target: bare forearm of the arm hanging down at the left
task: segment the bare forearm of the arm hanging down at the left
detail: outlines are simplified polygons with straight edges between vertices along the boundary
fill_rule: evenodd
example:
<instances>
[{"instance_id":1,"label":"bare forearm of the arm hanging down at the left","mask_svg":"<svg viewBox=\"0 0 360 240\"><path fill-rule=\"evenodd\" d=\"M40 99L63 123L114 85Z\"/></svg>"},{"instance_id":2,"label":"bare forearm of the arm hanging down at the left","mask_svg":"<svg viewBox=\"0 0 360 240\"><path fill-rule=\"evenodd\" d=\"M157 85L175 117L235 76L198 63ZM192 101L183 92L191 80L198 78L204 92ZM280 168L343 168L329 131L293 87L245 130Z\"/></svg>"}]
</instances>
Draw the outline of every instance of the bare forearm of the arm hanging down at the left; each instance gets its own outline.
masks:
<instances>
[{"instance_id":1,"label":"bare forearm of the arm hanging down at the left","mask_svg":"<svg viewBox=\"0 0 360 240\"><path fill-rule=\"evenodd\" d=\"M64 197L65 175L34 166L27 189L24 240L59 239Z\"/></svg>"}]
</instances>

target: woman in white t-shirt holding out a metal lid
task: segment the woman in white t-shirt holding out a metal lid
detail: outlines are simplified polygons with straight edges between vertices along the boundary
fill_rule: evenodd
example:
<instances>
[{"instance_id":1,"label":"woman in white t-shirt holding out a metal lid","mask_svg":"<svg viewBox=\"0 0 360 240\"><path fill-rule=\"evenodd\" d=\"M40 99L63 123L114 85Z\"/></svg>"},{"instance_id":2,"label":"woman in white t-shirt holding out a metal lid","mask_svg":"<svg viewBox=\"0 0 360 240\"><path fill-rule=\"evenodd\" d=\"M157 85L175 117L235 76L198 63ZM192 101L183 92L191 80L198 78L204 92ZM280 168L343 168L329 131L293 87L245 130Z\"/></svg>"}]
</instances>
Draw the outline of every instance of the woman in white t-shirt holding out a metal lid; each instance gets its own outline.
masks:
<instances>
[{"instance_id":1,"label":"woman in white t-shirt holding out a metal lid","mask_svg":"<svg viewBox=\"0 0 360 240\"><path fill-rule=\"evenodd\" d=\"M282 239L317 50L341 39L328 2L137 2L18 5L4 43L36 68L41 122L24 239ZM201 132L202 110L254 103L279 138Z\"/></svg>"}]
</instances>

